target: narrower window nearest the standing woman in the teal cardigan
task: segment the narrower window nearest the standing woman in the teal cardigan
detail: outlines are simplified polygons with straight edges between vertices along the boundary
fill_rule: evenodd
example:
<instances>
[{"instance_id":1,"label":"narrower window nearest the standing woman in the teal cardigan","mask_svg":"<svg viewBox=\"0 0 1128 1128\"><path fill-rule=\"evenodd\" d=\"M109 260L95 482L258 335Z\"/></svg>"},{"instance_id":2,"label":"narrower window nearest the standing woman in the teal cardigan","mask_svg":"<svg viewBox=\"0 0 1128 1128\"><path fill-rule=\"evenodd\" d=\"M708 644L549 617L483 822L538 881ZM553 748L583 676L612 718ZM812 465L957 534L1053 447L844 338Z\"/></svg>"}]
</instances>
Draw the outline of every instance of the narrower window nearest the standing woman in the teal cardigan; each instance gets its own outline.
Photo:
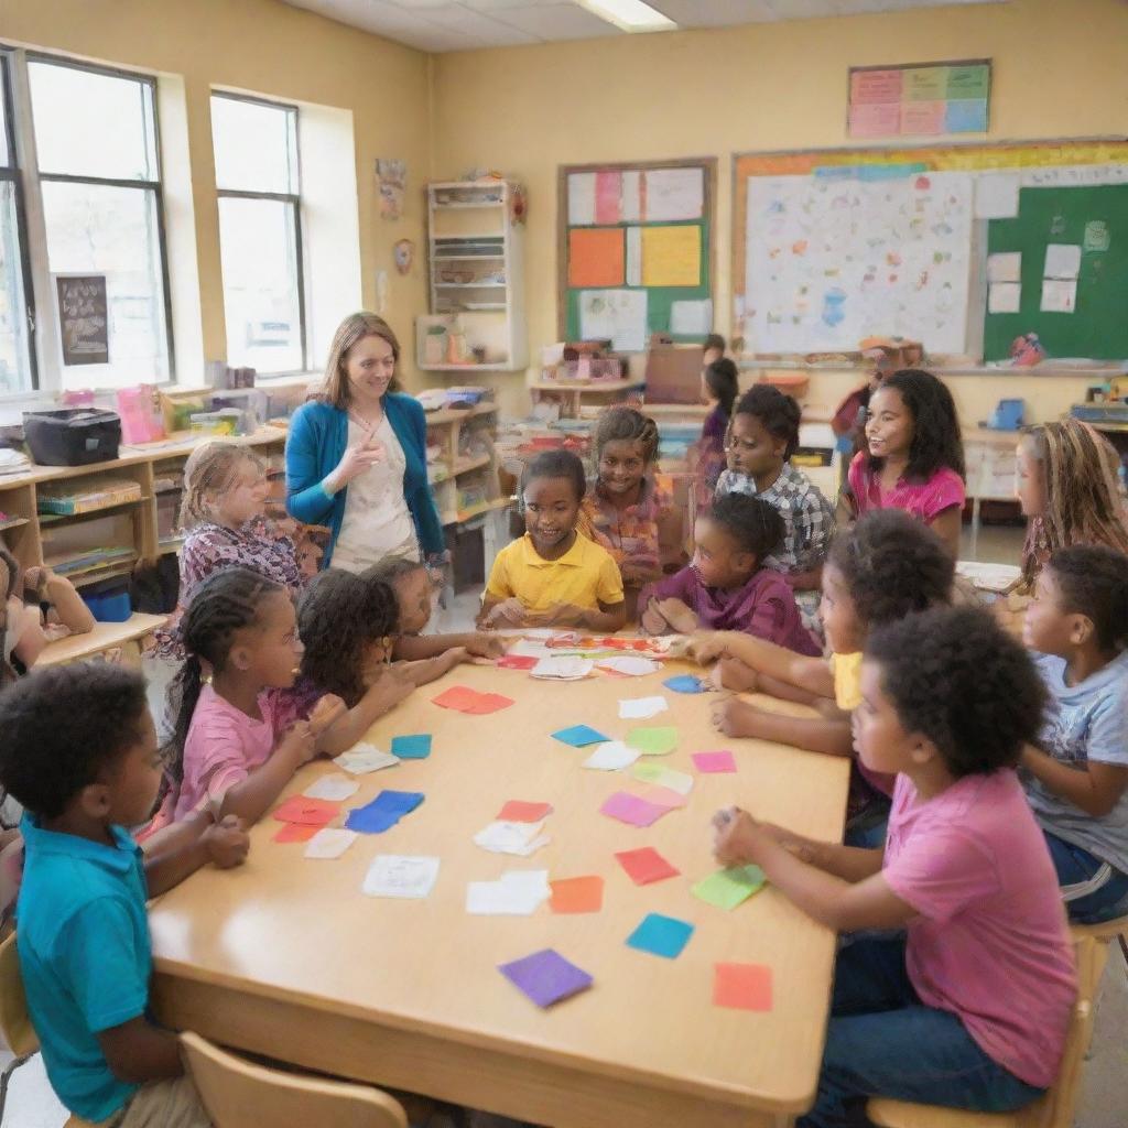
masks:
<instances>
[{"instance_id":1,"label":"narrower window nearest the standing woman in the teal cardigan","mask_svg":"<svg viewBox=\"0 0 1128 1128\"><path fill-rule=\"evenodd\" d=\"M306 367L298 111L211 99L227 361L259 372Z\"/></svg>"}]
</instances>

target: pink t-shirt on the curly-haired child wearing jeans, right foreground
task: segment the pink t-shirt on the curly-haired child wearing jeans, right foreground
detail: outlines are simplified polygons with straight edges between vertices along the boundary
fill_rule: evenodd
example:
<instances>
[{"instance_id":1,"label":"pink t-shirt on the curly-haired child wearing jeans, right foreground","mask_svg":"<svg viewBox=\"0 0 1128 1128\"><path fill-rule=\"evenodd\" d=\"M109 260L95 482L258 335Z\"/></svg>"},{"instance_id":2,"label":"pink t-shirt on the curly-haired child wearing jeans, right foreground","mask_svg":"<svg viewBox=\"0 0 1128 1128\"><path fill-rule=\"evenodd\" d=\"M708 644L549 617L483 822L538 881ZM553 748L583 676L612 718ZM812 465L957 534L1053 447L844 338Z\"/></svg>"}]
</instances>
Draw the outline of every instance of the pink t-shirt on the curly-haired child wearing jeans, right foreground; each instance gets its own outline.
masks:
<instances>
[{"instance_id":1,"label":"pink t-shirt on the curly-haired child wearing jeans, right foreground","mask_svg":"<svg viewBox=\"0 0 1128 1128\"><path fill-rule=\"evenodd\" d=\"M964 776L926 801L899 775L882 874L920 914L906 951L920 1001L957 1014L1016 1077L1052 1084L1077 981L1057 874L1014 772Z\"/></svg>"}]
</instances>

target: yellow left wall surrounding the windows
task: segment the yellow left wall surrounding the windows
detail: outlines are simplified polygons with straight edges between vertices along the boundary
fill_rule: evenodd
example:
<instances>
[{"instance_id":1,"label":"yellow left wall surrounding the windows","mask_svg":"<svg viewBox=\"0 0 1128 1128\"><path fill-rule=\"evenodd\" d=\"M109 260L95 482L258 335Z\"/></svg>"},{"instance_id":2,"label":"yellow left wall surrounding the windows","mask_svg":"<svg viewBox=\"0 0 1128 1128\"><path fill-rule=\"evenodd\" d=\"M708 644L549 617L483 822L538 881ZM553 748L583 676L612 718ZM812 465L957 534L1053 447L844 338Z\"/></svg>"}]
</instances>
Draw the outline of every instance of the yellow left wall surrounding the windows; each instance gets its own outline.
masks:
<instances>
[{"instance_id":1,"label":"yellow left wall surrounding the windows","mask_svg":"<svg viewBox=\"0 0 1128 1128\"><path fill-rule=\"evenodd\" d=\"M415 382L412 325L416 312L426 308L421 191L431 159L426 54L276 0L0 0L0 42L184 77L209 358L227 354L211 87L351 109L363 299L371 307L376 272L387 271L388 317L404 338L405 376ZM407 161L404 215L396 222L379 218L372 171L377 157ZM391 261L391 246L402 238L414 239L421 250L421 262L403 279ZM347 312L342 310L342 316ZM200 382L192 373L182 379Z\"/></svg>"}]
</instances>

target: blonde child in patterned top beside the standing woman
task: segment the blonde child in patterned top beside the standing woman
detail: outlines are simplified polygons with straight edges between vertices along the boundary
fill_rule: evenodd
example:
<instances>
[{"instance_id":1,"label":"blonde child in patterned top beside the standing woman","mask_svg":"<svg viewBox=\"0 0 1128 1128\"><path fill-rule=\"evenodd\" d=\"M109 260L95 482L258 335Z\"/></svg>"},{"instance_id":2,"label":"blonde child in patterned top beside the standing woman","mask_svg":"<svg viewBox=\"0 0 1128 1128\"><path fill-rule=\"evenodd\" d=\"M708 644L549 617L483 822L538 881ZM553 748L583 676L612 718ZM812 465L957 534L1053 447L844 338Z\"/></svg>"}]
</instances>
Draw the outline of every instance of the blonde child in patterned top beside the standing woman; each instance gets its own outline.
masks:
<instances>
[{"instance_id":1,"label":"blonde child in patterned top beside the standing woman","mask_svg":"<svg viewBox=\"0 0 1128 1128\"><path fill-rule=\"evenodd\" d=\"M264 515L265 469L246 447L205 442L184 464L180 527L180 592L177 609L157 633L157 653L183 658L177 624L200 584L220 569L243 567L297 596L306 584L293 541Z\"/></svg>"}]
</instances>

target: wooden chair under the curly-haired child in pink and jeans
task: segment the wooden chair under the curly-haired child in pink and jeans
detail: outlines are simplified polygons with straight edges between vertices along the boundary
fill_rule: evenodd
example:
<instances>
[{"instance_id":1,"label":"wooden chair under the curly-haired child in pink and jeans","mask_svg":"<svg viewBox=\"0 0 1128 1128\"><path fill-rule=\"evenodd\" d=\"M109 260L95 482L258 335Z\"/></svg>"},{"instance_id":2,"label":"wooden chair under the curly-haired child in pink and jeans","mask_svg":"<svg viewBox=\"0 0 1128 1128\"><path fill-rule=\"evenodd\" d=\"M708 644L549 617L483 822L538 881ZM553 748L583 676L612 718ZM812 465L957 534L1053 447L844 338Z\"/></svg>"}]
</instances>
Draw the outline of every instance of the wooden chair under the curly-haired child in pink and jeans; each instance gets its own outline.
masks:
<instances>
[{"instance_id":1,"label":"wooden chair under the curly-haired child in pink and jeans","mask_svg":"<svg viewBox=\"0 0 1128 1128\"><path fill-rule=\"evenodd\" d=\"M1073 1128L1081 1069L1093 1037L1093 999L1109 945L1091 935L1077 935L1074 928L1074 951L1077 955L1077 1002L1066 1034L1061 1068L1043 1096L1016 1112L968 1112L873 1096L866 1103L866 1116L882 1128Z\"/></svg>"}]
</instances>

